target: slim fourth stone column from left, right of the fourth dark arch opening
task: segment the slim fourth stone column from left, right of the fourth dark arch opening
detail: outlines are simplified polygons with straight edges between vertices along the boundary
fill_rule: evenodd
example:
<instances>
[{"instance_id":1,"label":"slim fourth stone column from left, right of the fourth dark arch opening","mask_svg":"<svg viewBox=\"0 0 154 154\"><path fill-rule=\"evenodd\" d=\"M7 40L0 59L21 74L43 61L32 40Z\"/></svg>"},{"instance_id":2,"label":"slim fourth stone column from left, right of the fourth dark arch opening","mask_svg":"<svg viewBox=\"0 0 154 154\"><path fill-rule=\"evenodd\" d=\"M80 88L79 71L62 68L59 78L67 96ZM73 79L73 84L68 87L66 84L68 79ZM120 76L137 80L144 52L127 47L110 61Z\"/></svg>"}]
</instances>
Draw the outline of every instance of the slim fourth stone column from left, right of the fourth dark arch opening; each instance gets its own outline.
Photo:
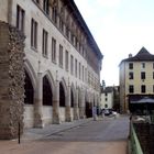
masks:
<instances>
[{"instance_id":1,"label":"slim fourth stone column from left, right of the fourth dark arch opening","mask_svg":"<svg viewBox=\"0 0 154 154\"><path fill-rule=\"evenodd\" d=\"M74 120L79 119L79 113L78 113L78 88L76 88L76 97L75 97L75 105L74 105Z\"/></svg>"}]
</instances>

